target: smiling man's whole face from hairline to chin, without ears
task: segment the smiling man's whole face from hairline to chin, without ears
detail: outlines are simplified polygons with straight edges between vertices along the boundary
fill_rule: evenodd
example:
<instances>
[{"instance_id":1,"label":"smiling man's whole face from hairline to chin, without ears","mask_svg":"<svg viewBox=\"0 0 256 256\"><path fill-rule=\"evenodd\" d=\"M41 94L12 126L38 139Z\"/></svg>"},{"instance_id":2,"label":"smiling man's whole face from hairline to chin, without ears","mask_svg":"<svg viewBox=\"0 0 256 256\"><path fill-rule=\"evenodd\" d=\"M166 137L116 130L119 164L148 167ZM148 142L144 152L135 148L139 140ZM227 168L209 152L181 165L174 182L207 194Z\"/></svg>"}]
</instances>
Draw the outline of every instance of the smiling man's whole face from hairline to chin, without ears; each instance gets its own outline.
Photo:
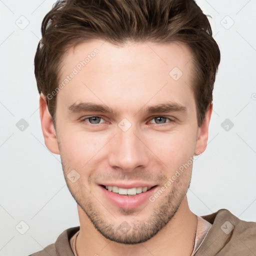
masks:
<instances>
[{"instance_id":1,"label":"smiling man's whole face from hairline to chin, without ears","mask_svg":"<svg viewBox=\"0 0 256 256\"><path fill-rule=\"evenodd\" d=\"M198 151L191 54L178 43L94 40L62 61L56 135L67 186L106 238L146 241L178 209Z\"/></svg>"}]
</instances>

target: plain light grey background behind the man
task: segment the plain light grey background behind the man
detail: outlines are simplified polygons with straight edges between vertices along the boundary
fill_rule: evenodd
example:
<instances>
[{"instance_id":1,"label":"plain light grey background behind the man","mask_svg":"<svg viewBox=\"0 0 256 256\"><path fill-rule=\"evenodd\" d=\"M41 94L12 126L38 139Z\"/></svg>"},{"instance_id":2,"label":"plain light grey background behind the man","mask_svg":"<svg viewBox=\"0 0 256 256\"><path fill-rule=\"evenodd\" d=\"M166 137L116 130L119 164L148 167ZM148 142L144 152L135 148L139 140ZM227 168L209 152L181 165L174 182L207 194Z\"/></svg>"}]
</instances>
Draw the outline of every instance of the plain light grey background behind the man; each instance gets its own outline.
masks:
<instances>
[{"instance_id":1,"label":"plain light grey background behind the man","mask_svg":"<svg viewBox=\"0 0 256 256\"><path fill-rule=\"evenodd\" d=\"M44 145L33 74L40 23L53 2L0 0L0 255L5 256L41 250L79 225L60 157ZM198 215L226 208L255 221L256 1L197 3L212 17L221 62L208 147L194 162L189 206ZM21 118L29 125L23 131L22 121L16 126Z\"/></svg>"}]
</instances>

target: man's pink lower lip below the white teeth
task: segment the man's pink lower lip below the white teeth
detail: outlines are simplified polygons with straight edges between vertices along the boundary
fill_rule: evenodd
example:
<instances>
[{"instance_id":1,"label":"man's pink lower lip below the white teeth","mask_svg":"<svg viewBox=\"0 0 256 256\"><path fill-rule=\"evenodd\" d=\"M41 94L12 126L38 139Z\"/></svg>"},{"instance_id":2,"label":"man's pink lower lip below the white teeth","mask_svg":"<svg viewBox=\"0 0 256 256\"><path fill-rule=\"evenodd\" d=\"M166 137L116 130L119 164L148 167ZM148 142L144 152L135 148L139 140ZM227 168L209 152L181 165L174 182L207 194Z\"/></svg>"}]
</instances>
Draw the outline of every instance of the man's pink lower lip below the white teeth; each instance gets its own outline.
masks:
<instances>
[{"instance_id":1,"label":"man's pink lower lip below the white teeth","mask_svg":"<svg viewBox=\"0 0 256 256\"><path fill-rule=\"evenodd\" d=\"M124 209L133 209L144 203L148 200L150 195L152 195L157 188L157 186L152 187L151 189L147 190L146 192L142 192L135 195L120 195L118 193L114 193L108 191L101 185L99 185L105 197L114 205Z\"/></svg>"}]
</instances>

